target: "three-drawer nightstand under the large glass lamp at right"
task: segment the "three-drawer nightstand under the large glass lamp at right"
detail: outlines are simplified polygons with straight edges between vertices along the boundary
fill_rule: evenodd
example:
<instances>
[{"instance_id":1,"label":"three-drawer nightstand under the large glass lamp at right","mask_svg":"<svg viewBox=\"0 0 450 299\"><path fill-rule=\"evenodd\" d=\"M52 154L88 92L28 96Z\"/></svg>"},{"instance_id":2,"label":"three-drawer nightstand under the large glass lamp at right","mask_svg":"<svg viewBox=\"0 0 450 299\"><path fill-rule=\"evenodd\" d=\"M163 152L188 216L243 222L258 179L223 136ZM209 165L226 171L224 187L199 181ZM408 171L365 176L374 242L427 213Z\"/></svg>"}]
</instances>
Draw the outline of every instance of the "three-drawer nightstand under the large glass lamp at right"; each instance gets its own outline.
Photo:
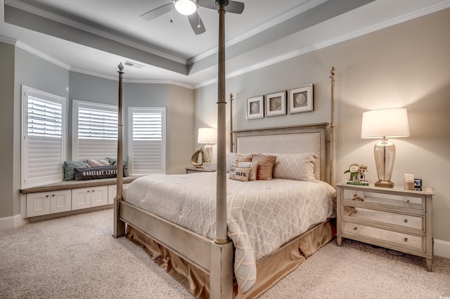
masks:
<instances>
[{"instance_id":1,"label":"three-drawer nightstand under the large glass lamp at right","mask_svg":"<svg viewBox=\"0 0 450 299\"><path fill-rule=\"evenodd\" d=\"M432 271L433 187L413 191L345 182L336 186L338 246L347 238L418 255Z\"/></svg>"}]
</instances>

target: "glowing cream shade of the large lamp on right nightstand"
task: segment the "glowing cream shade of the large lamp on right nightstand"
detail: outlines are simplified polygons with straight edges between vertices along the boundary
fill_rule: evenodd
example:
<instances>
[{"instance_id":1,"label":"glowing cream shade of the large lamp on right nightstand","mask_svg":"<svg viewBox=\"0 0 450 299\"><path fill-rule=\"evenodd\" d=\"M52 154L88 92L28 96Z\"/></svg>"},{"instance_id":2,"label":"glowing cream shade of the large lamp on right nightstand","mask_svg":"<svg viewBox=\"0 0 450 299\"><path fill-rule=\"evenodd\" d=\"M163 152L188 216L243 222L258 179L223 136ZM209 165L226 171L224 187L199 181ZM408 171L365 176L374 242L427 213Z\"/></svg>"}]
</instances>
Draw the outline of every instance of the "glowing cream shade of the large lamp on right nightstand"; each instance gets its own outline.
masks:
<instances>
[{"instance_id":1,"label":"glowing cream shade of the large lamp on right nightstand","mask_svg":"<svg viewBox=\"0 0 450 299\"><path fill-rule=\"evenodd\" d=\"M363 113L361 138L408 136L408 112L405 108L378 109Z\"/></svg>"}]
</instances>

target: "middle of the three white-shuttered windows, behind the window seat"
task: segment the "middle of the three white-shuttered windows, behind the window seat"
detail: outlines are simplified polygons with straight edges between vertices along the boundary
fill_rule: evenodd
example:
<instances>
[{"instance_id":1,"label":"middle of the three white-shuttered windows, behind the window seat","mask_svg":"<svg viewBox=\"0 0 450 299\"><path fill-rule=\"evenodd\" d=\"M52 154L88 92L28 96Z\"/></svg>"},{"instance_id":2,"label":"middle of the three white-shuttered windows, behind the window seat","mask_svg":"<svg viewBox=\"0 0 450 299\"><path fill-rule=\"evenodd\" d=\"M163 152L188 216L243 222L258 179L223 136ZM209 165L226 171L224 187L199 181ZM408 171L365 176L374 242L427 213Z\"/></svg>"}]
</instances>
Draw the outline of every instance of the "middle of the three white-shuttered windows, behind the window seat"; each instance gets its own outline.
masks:
<instances>
[{"instance_id":1,"label":"middle of the three white-shuttered windows, behind the window seat","mask_svg":"<svg viewBox=\"0 0 450 299\"><path fill-rule=\"evenodd\" d=\"M117 107L73 100L72 159L117 157Z\"/></svg>"}]
</instances>

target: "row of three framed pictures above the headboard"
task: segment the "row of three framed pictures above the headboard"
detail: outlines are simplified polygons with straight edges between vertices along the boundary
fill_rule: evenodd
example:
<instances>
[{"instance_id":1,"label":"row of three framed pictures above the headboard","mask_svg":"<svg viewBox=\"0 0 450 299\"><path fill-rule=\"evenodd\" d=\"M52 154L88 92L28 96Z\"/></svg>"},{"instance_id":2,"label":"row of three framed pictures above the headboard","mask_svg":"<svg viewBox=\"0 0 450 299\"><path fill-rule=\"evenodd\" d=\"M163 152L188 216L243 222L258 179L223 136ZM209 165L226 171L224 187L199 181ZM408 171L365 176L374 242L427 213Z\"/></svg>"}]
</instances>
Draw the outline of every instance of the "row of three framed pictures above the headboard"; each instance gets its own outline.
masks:
<instances>
[{"instance_id":1,"label":"row of three framed pictures above the headboard","mask_svg":"<svg viewBox=\"0 0 450 299\"><path fill-rule=\"evenodd\" d=\"M286 101L288 95L288 101ZM313 84L247 98L247 119L274 117L277 115L314 110Z\"/></svg>"}]
</instances>

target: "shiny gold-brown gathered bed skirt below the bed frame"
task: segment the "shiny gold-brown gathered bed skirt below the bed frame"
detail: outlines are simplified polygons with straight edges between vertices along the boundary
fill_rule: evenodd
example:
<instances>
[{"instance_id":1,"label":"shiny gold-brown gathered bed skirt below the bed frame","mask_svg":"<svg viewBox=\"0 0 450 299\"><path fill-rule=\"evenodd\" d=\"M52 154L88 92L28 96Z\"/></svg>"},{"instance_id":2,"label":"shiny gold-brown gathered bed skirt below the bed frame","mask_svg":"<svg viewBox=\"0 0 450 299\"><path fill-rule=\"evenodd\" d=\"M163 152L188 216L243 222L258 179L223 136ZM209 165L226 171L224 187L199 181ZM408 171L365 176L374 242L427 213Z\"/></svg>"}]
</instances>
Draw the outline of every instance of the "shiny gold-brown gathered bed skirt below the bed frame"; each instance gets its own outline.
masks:
<instances>
[{"instance_id":1,"label":"shiny gold-brown gathered bed skirt below the bed frame","mask_svg":"<svg viewBox=\"0 0 450 299\"><path fill-rule=\"evenodd\" d=\"M312 227L300 237L289 241L274 253L257 260L257 280L243 293L234 280L233 298L257 298L283 277L293 272L306 258L335 237L330 220ZM148 253L150 258L186 288L195 298L210 298L210 276L186 262L173 251L161 246L145 233L127 225L127 238Z\"/></svg>"}]
</instances>

